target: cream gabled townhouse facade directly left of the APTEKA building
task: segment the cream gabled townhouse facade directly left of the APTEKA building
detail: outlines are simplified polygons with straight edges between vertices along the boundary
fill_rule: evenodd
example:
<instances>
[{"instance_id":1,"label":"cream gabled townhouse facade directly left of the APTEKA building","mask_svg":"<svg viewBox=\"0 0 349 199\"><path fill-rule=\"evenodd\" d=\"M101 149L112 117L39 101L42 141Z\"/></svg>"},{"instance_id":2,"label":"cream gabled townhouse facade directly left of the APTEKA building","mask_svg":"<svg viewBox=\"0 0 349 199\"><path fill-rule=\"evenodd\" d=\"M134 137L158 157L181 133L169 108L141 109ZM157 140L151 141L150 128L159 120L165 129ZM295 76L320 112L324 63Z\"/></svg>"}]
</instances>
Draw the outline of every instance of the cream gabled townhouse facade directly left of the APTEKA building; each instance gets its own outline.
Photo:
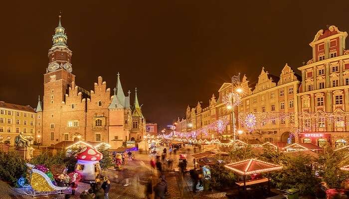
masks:
<instances>
[{"instance_id":1,"label":"cream gabled townhouse facade directly left of the APTEKA building","mask_svg":"<svg viewBox=\"0 0 349 199\"><path fill-rule=\"evenodd\" d=\"M290 128L295 125L296 118L280 119L279 115L297 112L299 84L297 75L287 64L281 71L280 77L270 75L264 71L263 67L254 87L249 85L249 81L244 76L241 82L243 93L241 94L239 113L252 112L257 117L257 123L256 128L252 130L245 128L244 120L239 121L239 130L243 132L239 138L242 140L287 142ZM266 115L265 118L261 118L263 115Z\"/></svg>"}]
</instances>

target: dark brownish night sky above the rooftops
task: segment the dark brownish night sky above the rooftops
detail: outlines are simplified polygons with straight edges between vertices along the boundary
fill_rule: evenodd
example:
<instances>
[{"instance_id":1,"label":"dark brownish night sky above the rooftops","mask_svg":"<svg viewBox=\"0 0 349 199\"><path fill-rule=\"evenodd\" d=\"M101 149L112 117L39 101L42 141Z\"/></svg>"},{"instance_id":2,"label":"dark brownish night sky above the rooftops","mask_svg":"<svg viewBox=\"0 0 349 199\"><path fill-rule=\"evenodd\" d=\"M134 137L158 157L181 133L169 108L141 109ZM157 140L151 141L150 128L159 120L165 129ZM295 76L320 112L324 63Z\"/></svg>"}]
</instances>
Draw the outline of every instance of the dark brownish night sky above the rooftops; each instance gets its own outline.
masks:
<instances>
[{"instance_id":1,"label":"dark brownish night sky above the rooftops","mask_svg":"<svg viewBox=\"0 0 349 199\"><path fill-rule=\"evenodd\" d=\"M147 120L166 125L188 103L208 102L238 72L280 75L312 57L327 24L349 30L349 0L42 0L2 3L0 100L36 107L53 30L62 25L76 84L97 77L138 87ZM133 93L134 94L134 93Z\"/></svg>"}]
</instances>

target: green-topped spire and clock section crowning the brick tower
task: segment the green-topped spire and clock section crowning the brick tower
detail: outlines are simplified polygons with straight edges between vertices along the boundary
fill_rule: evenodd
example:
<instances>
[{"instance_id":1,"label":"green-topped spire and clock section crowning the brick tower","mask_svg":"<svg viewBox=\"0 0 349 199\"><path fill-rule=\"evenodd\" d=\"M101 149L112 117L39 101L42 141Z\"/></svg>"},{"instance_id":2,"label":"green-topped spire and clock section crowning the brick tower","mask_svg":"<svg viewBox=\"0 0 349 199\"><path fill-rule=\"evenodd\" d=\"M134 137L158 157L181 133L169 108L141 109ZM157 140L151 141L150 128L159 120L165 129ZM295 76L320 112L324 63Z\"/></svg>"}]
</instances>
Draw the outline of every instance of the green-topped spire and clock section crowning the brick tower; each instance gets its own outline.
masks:
<instances>
[{"instance_id":1,"label":"green-topped spire and clock section crowning the brick tower","mask_svg":"<svg viewBox=\"0 0 349 199\"><path fill-rule=\"evenodd\" d=\"M67 35L61 23L61 15L59 15L58 26L54 29L52 36L52 47L48 50L48 67L46 72L53 72L64 69L71 73L71 55L72 52L67 46Z\"/></svg>"}]
</instances>

